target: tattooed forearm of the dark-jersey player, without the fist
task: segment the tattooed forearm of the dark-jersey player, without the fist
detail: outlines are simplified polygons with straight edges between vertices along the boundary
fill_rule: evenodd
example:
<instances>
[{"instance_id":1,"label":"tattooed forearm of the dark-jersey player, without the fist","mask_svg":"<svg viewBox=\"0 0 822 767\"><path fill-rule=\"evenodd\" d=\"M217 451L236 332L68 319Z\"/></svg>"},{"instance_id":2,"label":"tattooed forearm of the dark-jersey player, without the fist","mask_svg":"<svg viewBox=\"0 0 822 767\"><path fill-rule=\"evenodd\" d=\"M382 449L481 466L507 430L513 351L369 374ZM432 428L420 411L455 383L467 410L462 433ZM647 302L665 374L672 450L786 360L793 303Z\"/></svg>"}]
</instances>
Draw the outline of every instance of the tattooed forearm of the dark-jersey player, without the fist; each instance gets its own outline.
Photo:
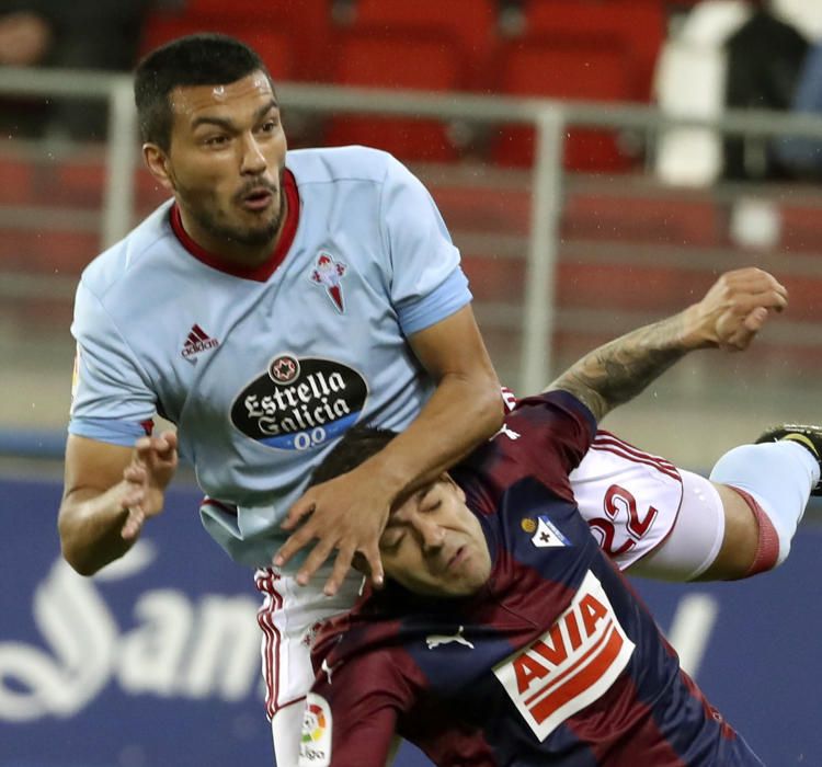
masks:
<instances>
[{"instance_id":1,"label":"tattooed forearm of the dark-jersey player, without the fist","mask_svg":"<svg viewBox=\"0 0 822 767\"><path fill-rule=\"evenodd\" d=\"M682 314L675 314L621 335L574 363L548 389L569 391L601 421L688 353L682 327Z\"/></svg>"}]
</instances>

